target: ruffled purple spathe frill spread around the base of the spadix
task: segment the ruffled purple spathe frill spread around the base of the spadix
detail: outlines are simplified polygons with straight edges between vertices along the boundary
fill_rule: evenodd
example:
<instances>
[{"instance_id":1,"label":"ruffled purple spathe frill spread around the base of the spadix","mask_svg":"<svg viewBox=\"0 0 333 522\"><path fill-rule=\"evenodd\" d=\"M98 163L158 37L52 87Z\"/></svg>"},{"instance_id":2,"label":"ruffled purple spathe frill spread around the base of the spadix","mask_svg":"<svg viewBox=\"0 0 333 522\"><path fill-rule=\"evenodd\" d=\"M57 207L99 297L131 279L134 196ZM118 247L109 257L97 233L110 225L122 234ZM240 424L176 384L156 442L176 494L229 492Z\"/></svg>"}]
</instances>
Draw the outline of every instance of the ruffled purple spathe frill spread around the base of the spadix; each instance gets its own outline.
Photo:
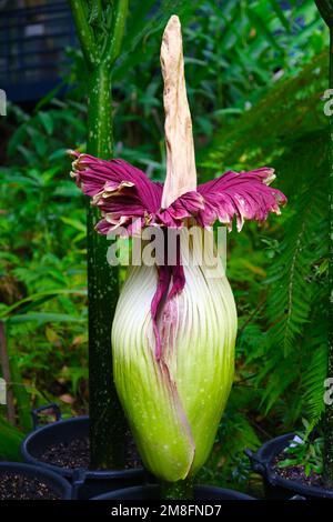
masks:
<instances>
[{"instance_id":1,"label":"ruffled purple spathe frill spread around the base of the spadix","mask_svg":"<svg viewBox=\"0 0 333 522\"><path fill-rule=\"evenodd\" d=\"M161 209L163 184L151 181L141 170L123 160L71 154L75 158L72 175L78 187L101 210L103 219L97 230L103 234L120 225L131 234L133 220L138 220L140 228L181 228L188 218L194 218L201 227L219 220L229 228L236 218L241 230L244 220L264 221L270 212L280 213L280 205L286 202L280 190L269 187L274 171L264 167L249 172L228 171Z\"/></svg>"}]
</instances>

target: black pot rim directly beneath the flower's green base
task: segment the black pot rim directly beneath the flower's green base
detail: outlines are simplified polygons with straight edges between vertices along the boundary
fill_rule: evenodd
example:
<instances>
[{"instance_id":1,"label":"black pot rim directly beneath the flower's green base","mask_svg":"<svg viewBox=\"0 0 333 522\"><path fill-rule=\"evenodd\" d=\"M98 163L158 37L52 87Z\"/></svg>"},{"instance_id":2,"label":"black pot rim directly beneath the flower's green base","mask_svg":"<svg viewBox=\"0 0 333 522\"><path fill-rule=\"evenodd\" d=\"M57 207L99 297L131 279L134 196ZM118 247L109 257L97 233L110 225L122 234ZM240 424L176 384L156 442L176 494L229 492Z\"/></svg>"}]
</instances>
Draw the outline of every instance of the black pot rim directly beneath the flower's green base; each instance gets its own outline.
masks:
<instances>
[{"instance_id":1,"label":"black pot rim directly beneath the flower's green base","mask_svg":"<svg viewBox=\"0 0 333 522\"><path fill-rule=\"evenodd\" d=\"M244 493L233 490L214 488L213 485L195 485L195 500L255 500ZM158 485L139 485L125 490L111 491L91 500L160 500Z\"/></svg>"}]
</instances>

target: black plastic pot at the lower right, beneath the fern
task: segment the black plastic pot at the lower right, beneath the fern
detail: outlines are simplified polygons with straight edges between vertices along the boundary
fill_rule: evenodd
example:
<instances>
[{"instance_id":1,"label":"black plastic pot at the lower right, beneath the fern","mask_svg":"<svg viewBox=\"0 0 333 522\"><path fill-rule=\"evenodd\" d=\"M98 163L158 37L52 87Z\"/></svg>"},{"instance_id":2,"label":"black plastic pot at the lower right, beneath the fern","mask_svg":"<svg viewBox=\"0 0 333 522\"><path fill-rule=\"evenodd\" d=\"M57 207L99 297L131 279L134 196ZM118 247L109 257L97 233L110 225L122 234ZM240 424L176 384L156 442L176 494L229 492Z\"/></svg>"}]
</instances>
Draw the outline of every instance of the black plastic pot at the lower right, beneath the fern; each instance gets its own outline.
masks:
<instances>
[{"instance_id":1,"label":"black plastic pot at the lower right, beneath the fern","mask_svg":"<svg viewBox=\"0 0 333 522\"><path fill-rule=\"evenodd\" d=\"M276 436L265 442L256 453L246 450L253 471L263 476L265 496L268 499L290 499L301 495L306 500L332 499L333 491L320 486L304 485L299 482L280 476L273 469L273 460L289 445L295 433Z\"/></svg>"}]
</instances>

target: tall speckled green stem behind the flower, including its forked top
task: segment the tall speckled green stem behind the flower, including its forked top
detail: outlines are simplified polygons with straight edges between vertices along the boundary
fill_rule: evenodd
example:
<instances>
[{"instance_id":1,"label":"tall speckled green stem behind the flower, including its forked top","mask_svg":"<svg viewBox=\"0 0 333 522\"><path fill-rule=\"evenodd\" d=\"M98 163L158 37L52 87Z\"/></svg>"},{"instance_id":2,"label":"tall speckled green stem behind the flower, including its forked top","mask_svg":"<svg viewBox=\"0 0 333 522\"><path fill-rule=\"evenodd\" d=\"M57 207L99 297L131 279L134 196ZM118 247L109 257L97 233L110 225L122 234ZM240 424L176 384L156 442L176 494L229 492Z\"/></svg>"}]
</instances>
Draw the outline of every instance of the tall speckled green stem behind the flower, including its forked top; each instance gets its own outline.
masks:
<instances>
[{"instance_id":1,"label":"tall speckled green stem behind the flower, including its forked top","mask_svg":"<svg viewBox=\"0 0 333 522\"><path fill-rule=\"evenodd\" d=\"M113 154L111 72L123 38L128 0L112 3L112 27L89 23L89 6L70 0L78 38L88 69L87 152L101 159ZM101 8L102 9L102 8ZM118 269L107 261L107 238L97 234L97 209L88 208L89 410L90 465L122 469L125 421L112 378L111 325L119 295Z\"/></svg>"}]
</instances>

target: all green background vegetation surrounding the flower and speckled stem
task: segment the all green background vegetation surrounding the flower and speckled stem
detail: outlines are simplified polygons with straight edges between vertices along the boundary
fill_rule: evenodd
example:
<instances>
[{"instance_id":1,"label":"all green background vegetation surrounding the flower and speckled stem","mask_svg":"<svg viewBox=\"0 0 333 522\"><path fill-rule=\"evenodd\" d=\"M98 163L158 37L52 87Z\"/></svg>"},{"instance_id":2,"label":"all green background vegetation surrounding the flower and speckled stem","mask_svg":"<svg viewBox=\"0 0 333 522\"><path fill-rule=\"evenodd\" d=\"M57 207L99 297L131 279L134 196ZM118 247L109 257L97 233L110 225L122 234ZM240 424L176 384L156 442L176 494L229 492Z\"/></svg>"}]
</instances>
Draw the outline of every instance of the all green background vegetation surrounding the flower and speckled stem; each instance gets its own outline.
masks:
<instances>
[{"instance_id":1,"label":"all green background vegetation surrounding the flower and speckled stem","mask_svg":"<svg viewBox=\"0 0 333 522\"><path fill-rule=\"evenodd\" d=\"M189 6L191 3L191 6ZM131 0L113 74L115 155L164 177L159 48L183 24L200 181L232 169L276 169L289 205L229 235L239 312L235 383L200 479L255 490L243 450L315 425L325 375L329 34L312 0ZM87 412L84 198L68 148L84 150L87 71L75 47L56 89L0 119L0 320L14 415L0 406L0 459L18 458L30 409ZM65 94L63 94L65 86ZM1 373L0 373L1 374Z\"/></svg>"}]
</instances>

